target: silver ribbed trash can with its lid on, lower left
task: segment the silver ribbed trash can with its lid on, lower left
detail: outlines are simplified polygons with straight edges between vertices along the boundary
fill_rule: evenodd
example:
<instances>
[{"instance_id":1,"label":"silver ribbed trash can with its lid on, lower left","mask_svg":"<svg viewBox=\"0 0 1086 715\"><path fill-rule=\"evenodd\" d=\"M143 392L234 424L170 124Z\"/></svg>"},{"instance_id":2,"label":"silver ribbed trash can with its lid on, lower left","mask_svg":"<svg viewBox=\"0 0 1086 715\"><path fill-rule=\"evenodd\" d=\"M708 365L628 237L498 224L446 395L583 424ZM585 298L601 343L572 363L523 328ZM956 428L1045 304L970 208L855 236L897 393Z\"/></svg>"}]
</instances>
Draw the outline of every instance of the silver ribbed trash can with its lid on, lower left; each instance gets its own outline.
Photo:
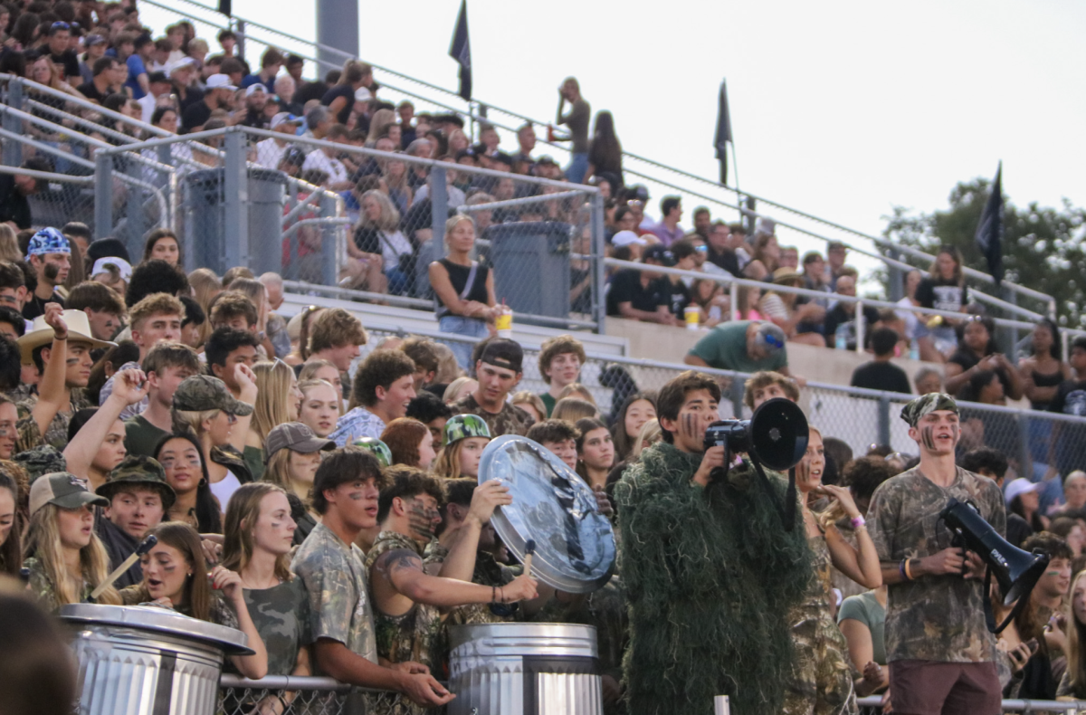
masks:
<instances>
[{"instance_id":1,"label":"silver ribbed trash can with its lid on, lower left","mask_svg":"<svg viewBox=\"0 0 1086 715\"><path fill-rule=\"evenodd\" d=\"M75 603L78 715L214 715L226 655L251 655L240 630L154 606Z\"/></svg>"}]
</instances>

